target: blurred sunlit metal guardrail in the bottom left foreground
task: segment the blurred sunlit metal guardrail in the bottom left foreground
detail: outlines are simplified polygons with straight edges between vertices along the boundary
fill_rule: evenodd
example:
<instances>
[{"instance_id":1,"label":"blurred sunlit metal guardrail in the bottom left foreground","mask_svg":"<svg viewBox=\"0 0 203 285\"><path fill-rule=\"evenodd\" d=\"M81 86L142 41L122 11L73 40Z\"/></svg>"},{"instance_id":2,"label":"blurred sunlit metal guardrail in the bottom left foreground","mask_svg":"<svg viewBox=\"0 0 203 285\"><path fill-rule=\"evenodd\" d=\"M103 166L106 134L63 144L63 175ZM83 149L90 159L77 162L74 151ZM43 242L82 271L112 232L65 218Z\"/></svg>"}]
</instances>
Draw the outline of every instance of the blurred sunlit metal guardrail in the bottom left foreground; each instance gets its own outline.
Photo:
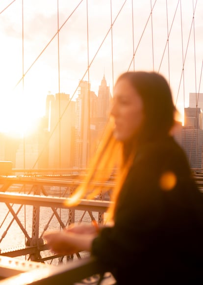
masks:
<instances>
[{"instance_id":1,"label":"blurred sunlit metal guardrail in the bottom left foreground","mask_svg":"<svg viewBox=\"0 0 203 285\"><path fill-rule=\"evenodd\" d=\"M1 256L0 278L2 279L0 285L104 285L115 282L113 276L106 272L103 265L93 256L59 266L22 262L15 258Z\"/></svg>"}]
</instances>

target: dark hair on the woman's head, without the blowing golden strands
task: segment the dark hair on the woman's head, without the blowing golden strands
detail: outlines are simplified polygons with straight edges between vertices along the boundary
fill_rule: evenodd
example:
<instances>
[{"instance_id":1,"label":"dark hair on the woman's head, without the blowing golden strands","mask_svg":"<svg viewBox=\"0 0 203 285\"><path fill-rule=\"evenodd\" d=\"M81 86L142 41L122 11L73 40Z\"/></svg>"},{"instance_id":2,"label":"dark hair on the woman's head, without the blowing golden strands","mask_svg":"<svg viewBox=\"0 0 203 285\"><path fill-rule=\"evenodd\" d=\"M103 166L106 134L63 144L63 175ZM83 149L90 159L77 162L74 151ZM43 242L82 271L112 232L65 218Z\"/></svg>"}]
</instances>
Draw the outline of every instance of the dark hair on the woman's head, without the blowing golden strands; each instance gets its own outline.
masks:
<instances>
[{"instance_id":1,"label":"dark hair on the woman's head, without the blowing golden strands","mask_svg":"<svg viewBox=\"0 0 203 285\"><path fill-rule=\"evenodd\" d=\"M140 139L152 139L168 135L174 125L176 108L166 79L156 72L125 72L117 80L127 79L141 96L145 122Z\"/></svg>"}]
</instances>

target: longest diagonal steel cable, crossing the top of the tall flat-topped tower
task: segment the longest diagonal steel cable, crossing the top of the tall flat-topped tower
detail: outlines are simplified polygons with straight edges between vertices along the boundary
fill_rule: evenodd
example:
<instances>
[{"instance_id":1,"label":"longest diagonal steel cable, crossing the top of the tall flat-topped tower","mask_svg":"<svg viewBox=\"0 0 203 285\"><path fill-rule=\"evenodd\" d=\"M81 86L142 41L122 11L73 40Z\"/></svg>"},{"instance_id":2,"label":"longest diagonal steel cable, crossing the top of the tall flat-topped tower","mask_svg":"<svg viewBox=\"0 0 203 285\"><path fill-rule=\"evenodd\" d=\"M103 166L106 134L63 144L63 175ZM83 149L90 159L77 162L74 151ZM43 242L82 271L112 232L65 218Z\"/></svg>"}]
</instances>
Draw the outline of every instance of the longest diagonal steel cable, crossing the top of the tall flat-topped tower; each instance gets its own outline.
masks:
<instances>
[{"instance_id":1,"label":"longest diagonal steel cable, crossing the top of the tall flat-topped tower","mask_svg":"<svg viewBox=\"0 0 203 285\"><path fill-rule=\"evenodd\" d=\"M121 6L121 9L119 10L118 14L116 15L116 17L115 17L115 19L114 19L114 21L113 21L113 23L112 23L112 25L111 25L112 27L113 27L114 23L116 22L116 20L117 20L119 14L121 13L121 11L122 11L122 9L123 9L123 7L124 7L124 5L125 5L126 2L127 2L127 0L125 0L124 3L123 3L123 5ZM73 13L72 13L72 14L73 14ZM63 25L64 25L64 24L63 24ZM87 74L88 69L90 68L90 66L92 65L92 63L93 63L95 57L97 56L98 52L100 51L100 49L101 49L101 47L102 47L102 44L104 43L104 41L105 41L107 35L109 34L110 30L111 30L111 27L108 29L108 31L107 31L106 35L104 36L104 38L103 38L103 40L102 40L102 42L101 42L101 44L100 44L100 46L99 46L99 48L98 48L96 54L94 55L94 57L92 58L91 62L89 63L89 66L88 66L88 68L86 69L85 73L83 74L83 76L82 76L82 78L81 78L81 81L84 79L85 75ZM52 38L52 39L53 39L53 38ZM45 49L44 49L44 50L45 50ZM39 57L38 57L38 58L39 58ZM38 58L37 58L37 59L38 59ZM36 60L37 60L37 59L36 59ZM35 60L35 62L36 62L36 60ZM32 64L32 65L33 65L33 64ZM30 66L30 68L31 68L31 66ZM29 68L29 69L30 69L30 68ZM27 71L28 71L28 70L27 70ZM66 105L66 107L64 108L64 111L62 112L61 117L60 117L59 119L61 119L62 116L65 114L67 108L69 107L69 104L70 104L71 100L73 99L74 95L76 94L76 91L78 90L78 87L79 87L79 84L77 85L77 87L76 87L76 89L75 89L75 91L74 91L72 97L70 98L69 103L68 103L68 104ZM52 135L54 134L54 132L55 132L57 126L58 126L58 122L56 123L55 127L53 128L50 137L49 137L48 140L45 142L45 145L44 145L44 147L42 148L42 151L40 152L40 154L39 154L37 160L35 161L35 163L34 163L34 165L33 165L33 168L36 166L37 162L39 161L39 158L41 157L43 151L44 151L45 148L47 147L47 144L49 143L49 141L50 141Z\"/></svg>"}]
</instances>

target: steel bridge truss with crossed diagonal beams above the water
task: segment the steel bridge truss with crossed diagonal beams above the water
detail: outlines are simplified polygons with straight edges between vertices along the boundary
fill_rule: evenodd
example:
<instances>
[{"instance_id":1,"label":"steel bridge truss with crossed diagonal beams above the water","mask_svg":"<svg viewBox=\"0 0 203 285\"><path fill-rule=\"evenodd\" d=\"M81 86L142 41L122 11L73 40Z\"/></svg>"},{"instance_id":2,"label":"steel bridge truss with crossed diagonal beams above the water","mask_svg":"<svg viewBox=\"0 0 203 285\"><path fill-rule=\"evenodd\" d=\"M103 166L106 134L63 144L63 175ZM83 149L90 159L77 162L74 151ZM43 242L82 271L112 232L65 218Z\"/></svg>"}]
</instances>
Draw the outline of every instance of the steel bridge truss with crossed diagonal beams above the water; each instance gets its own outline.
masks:
<instances>
[{"instance_id":1,"label":"steel bridge truss with crossed diagonal beams above the water","mask_svg":"<svg viewBox=\"0 0 203 285\"><path fill-rule=\"evenodd\" d=\"M43 234L47 230L62 229L72 223L91 223L92 220L103 223L110 201L102 193L94 200L82 199L76 207L67 207L69 195L80 183L82 180L78 176L0 176L0 202L5 208L3 212L2 206L0 209L0 255L25 256L28 260L41 262L53 259L56 262L57 258L59 263L64 262L64 259L73 259L74 256L49 256ZM105 190L112 189L112 186L112 182L102 184ZM22 234L20 246L15 244L17 227L19 235ZM3 246L11 234L14 235L11 246ZM84 253L82 255L85 256ZM77 253L76 256L80 258L81 254Z\"/></svg>"}]
</instances>

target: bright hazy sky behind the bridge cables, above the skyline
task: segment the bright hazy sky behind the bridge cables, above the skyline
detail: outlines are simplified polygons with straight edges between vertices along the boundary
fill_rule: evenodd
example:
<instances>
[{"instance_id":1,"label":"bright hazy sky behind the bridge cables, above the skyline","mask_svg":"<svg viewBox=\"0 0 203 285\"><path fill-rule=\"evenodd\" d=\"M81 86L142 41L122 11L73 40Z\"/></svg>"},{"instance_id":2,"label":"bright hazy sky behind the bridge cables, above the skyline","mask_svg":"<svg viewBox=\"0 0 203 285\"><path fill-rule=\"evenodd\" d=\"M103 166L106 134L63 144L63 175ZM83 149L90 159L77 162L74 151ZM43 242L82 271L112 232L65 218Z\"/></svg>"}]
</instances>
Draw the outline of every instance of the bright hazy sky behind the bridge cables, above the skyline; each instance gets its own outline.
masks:
<instances>
[{"instance_id":1,"label":"bright hazy sky behind the bridge cables, above the skyline","mask_svg":"<svg viewBox=\"0 0 203 285\"><path fill-rule=\"evenodd\" d=\"M89 79L98 94L103 74L112 90L133 68L164 74L182 112L203 92L202 16L203 0L1 0L0 130L44 115L49 92L72 97Z\"/></svg>"}]
</instances>

